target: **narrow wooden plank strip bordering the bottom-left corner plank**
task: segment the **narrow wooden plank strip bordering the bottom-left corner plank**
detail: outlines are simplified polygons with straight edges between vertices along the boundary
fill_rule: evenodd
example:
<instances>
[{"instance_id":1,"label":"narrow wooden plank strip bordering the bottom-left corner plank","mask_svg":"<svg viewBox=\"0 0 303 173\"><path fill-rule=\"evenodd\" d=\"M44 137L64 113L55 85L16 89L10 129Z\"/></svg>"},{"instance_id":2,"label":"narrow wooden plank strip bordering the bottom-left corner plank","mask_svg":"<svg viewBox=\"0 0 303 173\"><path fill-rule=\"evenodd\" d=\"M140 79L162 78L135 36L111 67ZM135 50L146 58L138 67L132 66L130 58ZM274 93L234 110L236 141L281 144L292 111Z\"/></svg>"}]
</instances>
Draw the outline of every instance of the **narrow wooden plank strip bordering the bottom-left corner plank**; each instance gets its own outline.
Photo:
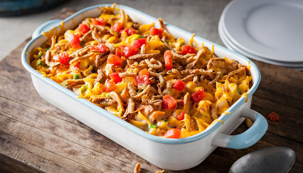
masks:
<instances>
[{"instance_id":1,"label":"narrow wooden plank strip bordering the bottom-left corner plank","mask_svg":"<svg viewBox=\"0 0 303 173\"><path fill-rule=\"evenodd\" d=\"M0 114L0 125L4 127L1 129L3 133L14 135L19 139L23 138L30 144L44 148L45 150L56 153L69 160L86 165L96 171L131 172L134 169L133 165L113 159L91 149L86 149L81 145L64 140L55 135L51 135L2 114ZM142 170L142 172L149 171Z\"/></svg>"}]
</instances>

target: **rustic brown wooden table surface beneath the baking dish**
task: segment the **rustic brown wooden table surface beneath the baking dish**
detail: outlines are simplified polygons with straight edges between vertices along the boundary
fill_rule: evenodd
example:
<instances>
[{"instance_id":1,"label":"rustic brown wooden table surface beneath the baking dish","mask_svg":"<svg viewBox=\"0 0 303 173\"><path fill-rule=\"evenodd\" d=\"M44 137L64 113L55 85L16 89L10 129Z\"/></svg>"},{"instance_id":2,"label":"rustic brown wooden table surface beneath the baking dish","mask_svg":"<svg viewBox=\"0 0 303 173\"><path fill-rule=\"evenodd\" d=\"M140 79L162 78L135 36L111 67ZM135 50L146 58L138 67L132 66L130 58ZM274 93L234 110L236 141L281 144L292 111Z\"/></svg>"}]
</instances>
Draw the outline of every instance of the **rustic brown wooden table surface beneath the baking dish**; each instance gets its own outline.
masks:
<instances>
[{"instance_id":1,"label":"rustic brown wooden table surface beneath the baking dish","mask_svg":"<svg viewBox=\"0 0 303 173\"><path fill-rule=\"evenodd\" d=\"M56 18L75 11L64 9ZM145 161L44 101L21 64L25 40L0 62L0 172L141 172L161 168ZM180 172L228 172L235 160L272 146L293 149L290 172L303 170L303 72L259 61L262 80L251 109L280 120L268 120L268 131L255 145L241 150L217 148L198 166ZM241 124L233 135L247 129ZM173 172L166 170L165 172Z\"/></svg>"}]
</instances>

